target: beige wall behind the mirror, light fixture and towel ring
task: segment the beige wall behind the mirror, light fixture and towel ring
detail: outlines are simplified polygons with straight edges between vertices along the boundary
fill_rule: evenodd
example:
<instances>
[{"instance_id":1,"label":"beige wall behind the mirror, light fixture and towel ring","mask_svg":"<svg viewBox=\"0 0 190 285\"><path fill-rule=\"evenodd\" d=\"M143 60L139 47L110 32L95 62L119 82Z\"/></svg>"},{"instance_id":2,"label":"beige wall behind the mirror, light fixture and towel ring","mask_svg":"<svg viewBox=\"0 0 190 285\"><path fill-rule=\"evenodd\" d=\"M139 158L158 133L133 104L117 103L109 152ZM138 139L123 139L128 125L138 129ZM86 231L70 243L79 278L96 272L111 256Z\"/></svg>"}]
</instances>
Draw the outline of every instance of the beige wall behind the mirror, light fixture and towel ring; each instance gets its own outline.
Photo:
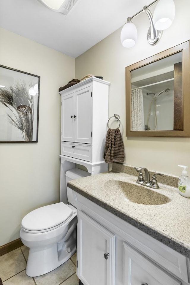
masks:
<instances>
[{"instance_id":1,"label":"beige wall behind the mirror, light fixture and towel ring","mask_svg":"<svg viewBox=\"0 0 190 285\"><path fill-rule=\"evenodd\" d=\"M125 164L179 175L181 169L178 164L190 167L190 138L125 137L125 67L190 39L190 1L174 0L174 2L176 6L174 22L164 31L157 45L148 44L146 37L150 24L148 16L141 13L133 19L138 32L134 47L127 49L121 45L121 29L118 29L76 58L75 78L80 79L91 73L110 81L109 116L119 114L121 117L120 129L125 145ZM151 7L151 11L154 7L155 5ZM127 16L130 15L126 14Z\"/></svg>"}]
</instances>

